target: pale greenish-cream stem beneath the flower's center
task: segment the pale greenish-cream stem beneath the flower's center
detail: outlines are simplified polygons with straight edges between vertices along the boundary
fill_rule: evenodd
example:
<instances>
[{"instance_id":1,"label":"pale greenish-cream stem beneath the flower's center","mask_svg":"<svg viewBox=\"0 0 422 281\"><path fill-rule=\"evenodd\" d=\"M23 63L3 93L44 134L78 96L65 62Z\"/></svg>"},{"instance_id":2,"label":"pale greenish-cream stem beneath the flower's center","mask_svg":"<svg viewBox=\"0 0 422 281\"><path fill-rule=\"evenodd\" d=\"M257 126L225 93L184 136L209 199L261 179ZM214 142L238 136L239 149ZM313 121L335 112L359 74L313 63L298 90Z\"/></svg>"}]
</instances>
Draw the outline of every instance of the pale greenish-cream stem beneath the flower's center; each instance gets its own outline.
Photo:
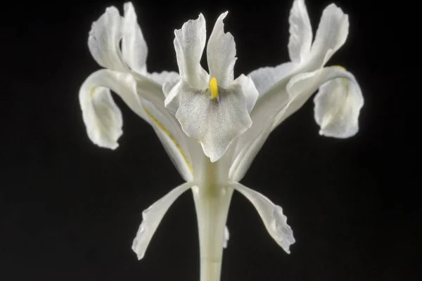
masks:
<instances>
[{"instance_id":1,"label":"pale greenish-cream stem beneath the flower's center","mask_svg":"<svg viewBox=\"0 0 422 281\"><path fill-rule=\"evenodd\" d=\"M219 281L224 228L233 188L220 181L217 163L211 163L208 158L205 161L198 187L193 188L200 244L200 281Z\"/></svg>"}]
</instances>

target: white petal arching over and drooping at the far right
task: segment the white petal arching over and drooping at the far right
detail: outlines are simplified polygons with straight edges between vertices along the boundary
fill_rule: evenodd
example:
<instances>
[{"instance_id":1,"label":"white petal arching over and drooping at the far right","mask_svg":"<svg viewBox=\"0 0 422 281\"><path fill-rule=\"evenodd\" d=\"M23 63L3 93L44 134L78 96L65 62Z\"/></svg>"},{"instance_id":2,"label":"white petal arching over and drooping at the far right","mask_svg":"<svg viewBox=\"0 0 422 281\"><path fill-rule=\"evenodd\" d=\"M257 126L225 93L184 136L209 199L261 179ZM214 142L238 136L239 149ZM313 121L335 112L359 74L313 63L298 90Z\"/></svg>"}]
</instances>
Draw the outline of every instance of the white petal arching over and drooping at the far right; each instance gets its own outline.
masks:
<instances>
[{"instance_id":1,"label":"white petal arching over and drooping at the far right","mask_svg":"<svg viewBox=\"0 0 422 281\"><path fill-rule=\"evenodd\" d=\"M320 133L335 138L348 138L357 133L364 98L354 76L340 67L324 67L290 79L287 86L290 101L277 124L302 107L323 84L315 98L315 119L321 126Z\"/></svg>"}]
</instances>

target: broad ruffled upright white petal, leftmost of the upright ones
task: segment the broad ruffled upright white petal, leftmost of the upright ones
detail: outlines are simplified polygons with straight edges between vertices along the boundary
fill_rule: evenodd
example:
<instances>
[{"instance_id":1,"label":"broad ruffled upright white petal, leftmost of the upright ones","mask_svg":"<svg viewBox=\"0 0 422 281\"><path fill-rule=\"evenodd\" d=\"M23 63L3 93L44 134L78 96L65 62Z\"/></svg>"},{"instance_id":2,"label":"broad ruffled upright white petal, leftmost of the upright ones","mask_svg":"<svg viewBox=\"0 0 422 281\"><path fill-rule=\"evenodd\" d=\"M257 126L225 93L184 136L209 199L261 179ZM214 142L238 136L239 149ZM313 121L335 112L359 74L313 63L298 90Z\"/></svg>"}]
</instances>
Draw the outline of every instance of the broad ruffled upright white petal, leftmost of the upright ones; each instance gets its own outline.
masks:
<instances>
[{"instance_id":1,"label":"broad ruffled upright white petal, leftmost of the upright ones","mask_svg":"<svg viewBox=\"0 0 422 281\"><path fill-rule=\"evenodd\" d=\"M122 39L122 17L115 7L106 9L89 32L88 46L98 65L110 70L125 72L119 42Z\"/></svg>"}]
</instances>

